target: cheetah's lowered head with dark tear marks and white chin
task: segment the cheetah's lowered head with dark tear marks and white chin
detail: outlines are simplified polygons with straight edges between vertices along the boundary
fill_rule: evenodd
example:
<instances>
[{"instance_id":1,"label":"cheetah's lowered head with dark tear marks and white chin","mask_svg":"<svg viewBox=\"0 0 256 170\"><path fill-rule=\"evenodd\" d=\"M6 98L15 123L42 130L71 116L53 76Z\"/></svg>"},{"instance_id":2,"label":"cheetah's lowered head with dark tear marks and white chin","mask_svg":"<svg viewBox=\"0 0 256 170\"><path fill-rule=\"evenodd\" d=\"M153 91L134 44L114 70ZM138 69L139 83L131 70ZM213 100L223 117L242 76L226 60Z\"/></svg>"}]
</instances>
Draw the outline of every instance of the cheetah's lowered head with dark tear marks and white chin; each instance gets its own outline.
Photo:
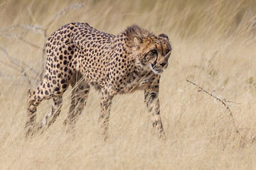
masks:
<instances>
[{"instance_id":1,"label":"cheetah's lowered head with dark tear marks and white chin","mask_svg":"<svg viewBox=\"0 0 256 170\"><path fill-rule=\"evenodd\" d=\"M161 74L168 67L171 55L171 44L166 34L149 37L134 37L134 45L137 47L137 64L154 74Z\"/></svg>"}]
</instances>

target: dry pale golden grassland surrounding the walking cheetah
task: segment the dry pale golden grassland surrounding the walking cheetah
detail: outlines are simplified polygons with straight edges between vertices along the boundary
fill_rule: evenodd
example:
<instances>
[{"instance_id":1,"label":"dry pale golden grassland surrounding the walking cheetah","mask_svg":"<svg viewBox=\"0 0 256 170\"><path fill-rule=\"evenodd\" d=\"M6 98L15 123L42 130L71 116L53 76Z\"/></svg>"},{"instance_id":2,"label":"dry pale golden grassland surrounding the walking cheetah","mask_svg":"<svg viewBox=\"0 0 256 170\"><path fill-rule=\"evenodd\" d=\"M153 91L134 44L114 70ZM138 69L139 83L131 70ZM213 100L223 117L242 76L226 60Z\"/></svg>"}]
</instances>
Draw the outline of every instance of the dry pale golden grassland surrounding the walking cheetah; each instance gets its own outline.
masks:
<instances>
[{"instance_id":1,"label":"dry pale golden grassland surrounding the walking cheetah","mask_svg":"<svg viewBox=\"0 0 256 170\"><path fill-rule=\"evenodd\" d=\"M1 0L0 169L256 169L255 6L254 0ZM45 38L70 22L112 34L137 23L169 35L173 52L160 85L166 142L154 135L142 91L114 98L107 142L98 135L95 90L73 134L63 125L68 89L56 122L24 138L26 95L40 80ZM224 101L232 115L186 79ZM51 104L38 107L38 120Z\"/></svg>"}]
</instances>

